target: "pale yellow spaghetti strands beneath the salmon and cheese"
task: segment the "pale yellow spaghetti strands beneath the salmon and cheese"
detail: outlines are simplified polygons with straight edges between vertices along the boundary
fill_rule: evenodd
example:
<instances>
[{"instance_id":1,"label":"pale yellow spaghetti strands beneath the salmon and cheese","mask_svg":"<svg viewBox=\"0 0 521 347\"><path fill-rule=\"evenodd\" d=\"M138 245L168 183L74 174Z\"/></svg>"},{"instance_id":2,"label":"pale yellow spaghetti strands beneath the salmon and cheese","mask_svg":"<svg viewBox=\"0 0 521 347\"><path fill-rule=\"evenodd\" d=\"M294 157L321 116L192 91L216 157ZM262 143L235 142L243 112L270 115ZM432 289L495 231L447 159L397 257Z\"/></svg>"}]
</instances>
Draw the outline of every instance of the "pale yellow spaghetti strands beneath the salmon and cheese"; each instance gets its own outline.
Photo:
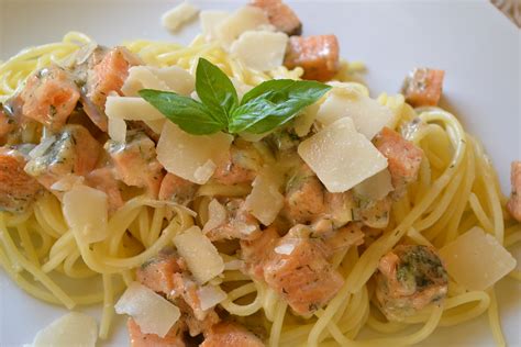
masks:
<instances>
[{"instance_id":1,"label":"pale yellow spaghetti strands beneath the salmon and cheese","mask_svg":"<svg viewBox=\"0 0 521 347\"><path fill-rule=\"evenodd\" d=\"M88 43L91 40L86 35L68 33L59 43L27 48L4 61L0 65L1 100L14 94L34 71L64 61ZM195 71L198 58L204 57L247 86L274 78L299 79L302 75L301 68L279 67L269 72L248 69L201 36L187 47L148 41L126 42L124 46L146 65L178 66L190 72ZM351 76L348 72L343 75L344 78ZM350 83L367 94L364 86ZM521 240L520 225L505 211L506 199L489 159L479 142L465 133L453 114L439 108L412 109L401 94L381 94L378 101L393 112L395 128L413 119L425 124L411 130L409 139L421 147L428 158L422 161L418 182L393 204L389 226L383 236L364 251L351 248L337 257L334 266L345 277L345 282L334 299L313 316L297 318L287 303L265 283L237 270L226 270L219 279L222 283L235 283L221 307L236 317L260 312L256 316L262 316L259 325L269 328L269 346L412 345L423 340L437 326L457 325L485 312L488 312L496 343L505 345L494 288L466 292L451 281L448 298L441 306L430 306L399 323L387 322L372 304L374 284L370 278L378 261L403 238L442 248L472 226L480 225L506 247ZM164 201L133 198L110 217L109 236L93 245L85 243L68 228L60 202L47 193L23 214L0 213L0 264L19 287L40 300L67 309L102 302L99 334L107 338L114 300L133 281L133 269L170 246L179 232L196 223L203 225L212 197L240 197L250 190L250 186L202 186L195 206L197 213ZM58 286L56 276L77 281L98 278L102 288L77 294ZM511 277L520 278L519 272L512 272ZM403 335L402 331L411 325L420 327ZM366 326L385 337L357 339Z\"/></svg>"}]
</instances>

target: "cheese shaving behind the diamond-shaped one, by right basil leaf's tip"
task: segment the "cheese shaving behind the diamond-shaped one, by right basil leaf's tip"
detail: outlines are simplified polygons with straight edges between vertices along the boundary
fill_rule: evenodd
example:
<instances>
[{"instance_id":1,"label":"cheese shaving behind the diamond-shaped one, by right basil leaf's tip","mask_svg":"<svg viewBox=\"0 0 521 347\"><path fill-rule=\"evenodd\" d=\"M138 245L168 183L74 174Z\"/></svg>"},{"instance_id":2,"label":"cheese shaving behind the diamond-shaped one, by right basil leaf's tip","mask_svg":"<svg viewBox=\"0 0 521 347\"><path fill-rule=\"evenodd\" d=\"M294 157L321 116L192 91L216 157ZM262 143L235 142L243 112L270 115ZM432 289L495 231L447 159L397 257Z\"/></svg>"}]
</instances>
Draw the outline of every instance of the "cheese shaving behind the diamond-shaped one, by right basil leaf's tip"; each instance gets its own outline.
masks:
<instances>
[{"instance_id":1,"label":"cheese shaving behind the diamond-shaped one, by right basil leaf's tip","mask_svg":"<svg viewBox=\"0 0 521 347\"><path fill-rule=\"evenodd\" d=\"M356 130L373 139L393 115L389 108L355 89L333 88L320 107L317 120L330 125L343 116L353 119Z\"/></svg>"}]
</instances>

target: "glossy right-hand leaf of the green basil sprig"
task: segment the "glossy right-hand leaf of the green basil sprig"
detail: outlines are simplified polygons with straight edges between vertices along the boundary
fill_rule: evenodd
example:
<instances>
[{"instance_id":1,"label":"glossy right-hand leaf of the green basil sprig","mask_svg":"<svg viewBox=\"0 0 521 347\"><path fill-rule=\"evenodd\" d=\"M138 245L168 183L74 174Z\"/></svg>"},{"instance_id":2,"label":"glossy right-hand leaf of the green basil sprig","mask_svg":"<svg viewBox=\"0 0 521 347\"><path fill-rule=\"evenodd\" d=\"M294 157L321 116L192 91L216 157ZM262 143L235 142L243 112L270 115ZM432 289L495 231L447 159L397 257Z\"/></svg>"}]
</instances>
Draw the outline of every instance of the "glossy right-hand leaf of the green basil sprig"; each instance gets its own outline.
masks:
<instances>
[{"instance_id":1,"label":"glossy right-hand leaf of the green basil sprig","mask_svg":"<svg viewBox=\"0 0 521 347\"><path fill-rule=\"evenodd\" d=\"M331 86L317 81L277 79L263 82L244 94L232 111L231 133L266 133L292 120L303 108L317 102Z\"/></svg>"}]
</instances>

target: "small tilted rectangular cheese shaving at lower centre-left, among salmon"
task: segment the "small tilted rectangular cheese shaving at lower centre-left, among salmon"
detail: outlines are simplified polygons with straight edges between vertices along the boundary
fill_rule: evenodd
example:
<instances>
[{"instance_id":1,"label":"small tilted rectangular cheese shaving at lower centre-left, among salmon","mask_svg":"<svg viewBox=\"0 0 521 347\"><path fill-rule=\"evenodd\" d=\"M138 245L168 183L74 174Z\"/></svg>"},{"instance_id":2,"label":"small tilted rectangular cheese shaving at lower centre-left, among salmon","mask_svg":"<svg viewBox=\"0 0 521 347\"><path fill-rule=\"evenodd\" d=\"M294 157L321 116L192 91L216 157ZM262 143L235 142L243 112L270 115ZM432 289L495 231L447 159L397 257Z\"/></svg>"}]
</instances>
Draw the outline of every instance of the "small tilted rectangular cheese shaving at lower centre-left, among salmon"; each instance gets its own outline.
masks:
<instances>
[{"instance_id":1,"label":"small tilted rectangular cheese shaving at lower centre-left, among salmon","mask_svg":"<svg viewBox=\"0 0 521 347\"><path fill-rule=\"evenodd\" d=\"M224 261L219 251L198 226L176 235L174 244L199 284L208 282L224 270Z\"/></svg>"}]
</instances>

